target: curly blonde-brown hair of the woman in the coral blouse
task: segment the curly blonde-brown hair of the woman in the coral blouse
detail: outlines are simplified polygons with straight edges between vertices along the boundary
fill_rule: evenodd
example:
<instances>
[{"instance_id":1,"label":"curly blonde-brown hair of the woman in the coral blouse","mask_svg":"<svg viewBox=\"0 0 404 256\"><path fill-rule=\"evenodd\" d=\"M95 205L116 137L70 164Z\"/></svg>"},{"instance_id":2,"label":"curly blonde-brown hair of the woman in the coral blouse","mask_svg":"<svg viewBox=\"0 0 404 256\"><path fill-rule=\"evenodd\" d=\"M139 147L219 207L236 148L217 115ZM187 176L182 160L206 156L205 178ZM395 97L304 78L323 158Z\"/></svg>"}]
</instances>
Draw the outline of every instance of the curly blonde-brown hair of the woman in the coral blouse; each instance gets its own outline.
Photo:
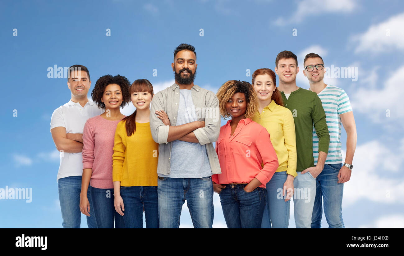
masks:
<instances>
[{"instance_id":1,"label":"curly blonde-brown hair of the woman in the coral blouse","mask_svg":"<svg viewBox=\"0 0 404 256\"><path fill-rule=\"evenodd\" d=\"M257 112L258 98L252 85L246 81L229 80L225 82L217 91L217 99L219 99L219 110L223 118L230 117L227 113L226 103L237 92L244 93L247 101L247 109L244 116L252 118Z\"/></svg>"}]
</instances>

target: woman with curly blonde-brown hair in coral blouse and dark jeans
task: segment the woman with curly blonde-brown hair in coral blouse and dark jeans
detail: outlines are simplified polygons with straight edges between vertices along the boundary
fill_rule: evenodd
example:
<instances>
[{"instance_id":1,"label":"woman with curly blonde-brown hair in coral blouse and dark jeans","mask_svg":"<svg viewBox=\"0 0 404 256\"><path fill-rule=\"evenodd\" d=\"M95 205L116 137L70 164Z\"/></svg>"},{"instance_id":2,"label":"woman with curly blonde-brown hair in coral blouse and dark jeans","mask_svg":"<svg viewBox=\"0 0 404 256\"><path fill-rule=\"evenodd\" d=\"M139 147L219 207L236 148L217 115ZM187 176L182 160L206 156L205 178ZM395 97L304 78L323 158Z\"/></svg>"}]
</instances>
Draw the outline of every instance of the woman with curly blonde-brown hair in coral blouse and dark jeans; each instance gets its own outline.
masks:
<instances>
[{"instance_id":1,"label":"woman with curly blonde-brown hair in coral blouse and dark jeans","mask_svg":"<svg viewBox=\"0 0 404 256\"><path fill-rule=\"evenodd\" d=\"M229 80L217 92L220 113L231 120L216 142L221 174L212 175L228 228L260 228L265 185L278 168L269 133L250 118L257 95L248 82Z\"/></svg>"}]
</instances>

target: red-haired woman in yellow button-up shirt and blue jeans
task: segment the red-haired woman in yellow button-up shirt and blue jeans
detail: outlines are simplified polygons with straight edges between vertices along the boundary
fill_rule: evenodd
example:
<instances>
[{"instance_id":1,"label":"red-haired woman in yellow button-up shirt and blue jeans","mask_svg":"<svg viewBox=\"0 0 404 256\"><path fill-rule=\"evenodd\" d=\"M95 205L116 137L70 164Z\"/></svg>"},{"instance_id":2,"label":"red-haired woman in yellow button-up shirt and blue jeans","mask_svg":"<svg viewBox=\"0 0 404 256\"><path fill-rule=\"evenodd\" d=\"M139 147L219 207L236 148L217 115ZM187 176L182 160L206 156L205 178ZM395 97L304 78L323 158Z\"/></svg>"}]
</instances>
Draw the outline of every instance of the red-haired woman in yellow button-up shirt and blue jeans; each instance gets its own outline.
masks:
<instances>
[{"instance_id":1,"label":"red-haired woman in yellow button-up shirt and blue jeans","mask_svg":"<svg viewBox=\"0 0 404 256\"><path fill-rule=\"evenodd\" d=\"M287 228L290 198L294 191L293 180L297 176L295 122L292 112L283 107L274 71L268 68L257 69L252 74L252 85L258 97L258 111L252 120L269 132L279 161L278 169L266 184L267 208L264 210L261 228Z\"/></svg>"}]
</instances>

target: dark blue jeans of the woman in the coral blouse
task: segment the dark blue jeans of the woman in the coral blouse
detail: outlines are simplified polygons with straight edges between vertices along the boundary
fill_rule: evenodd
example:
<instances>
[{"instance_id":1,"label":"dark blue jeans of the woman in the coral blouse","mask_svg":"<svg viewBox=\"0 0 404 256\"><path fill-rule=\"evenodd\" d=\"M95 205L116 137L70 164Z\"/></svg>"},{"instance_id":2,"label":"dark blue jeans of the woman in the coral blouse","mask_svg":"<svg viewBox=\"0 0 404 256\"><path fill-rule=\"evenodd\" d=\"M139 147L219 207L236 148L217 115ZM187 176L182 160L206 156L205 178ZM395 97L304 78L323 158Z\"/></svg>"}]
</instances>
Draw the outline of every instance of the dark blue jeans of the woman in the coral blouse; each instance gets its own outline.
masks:
<instances>
[{"instance_id":1,"label":"dark blue jeans of the woman in the coral blouse","mask_svg":"<svg viewBox=\"0 0 404 256\"><path fill-rule=\"evenodd\" d=\"M259 229L265 208L266 189L257 187L247 193L246 184L229 185L219 193L227 228Z\"/></svg>"}]
</instances>

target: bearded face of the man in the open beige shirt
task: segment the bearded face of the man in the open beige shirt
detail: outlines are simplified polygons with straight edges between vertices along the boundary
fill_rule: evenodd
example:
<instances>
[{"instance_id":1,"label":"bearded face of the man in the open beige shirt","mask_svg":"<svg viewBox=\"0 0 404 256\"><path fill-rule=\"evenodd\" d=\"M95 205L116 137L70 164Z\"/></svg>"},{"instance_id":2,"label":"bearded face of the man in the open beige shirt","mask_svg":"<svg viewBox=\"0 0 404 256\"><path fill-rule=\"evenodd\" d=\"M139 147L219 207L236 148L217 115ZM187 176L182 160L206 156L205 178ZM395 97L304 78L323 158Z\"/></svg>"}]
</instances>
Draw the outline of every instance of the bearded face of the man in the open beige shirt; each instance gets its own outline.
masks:
<instances>
[{"instance_id":1,"label":"bearded face of the man in the open beige shirt","mask_svg":"<svg viewBox=\"0 0 404 256\"><path fill-rule=\"evenodd\" d=\"M194 82L196 67L196 56L190 50L181 50L175 55L171 67L175 72L175 81L178 84L191 84Z\"/></svg>"}]
</instances>

